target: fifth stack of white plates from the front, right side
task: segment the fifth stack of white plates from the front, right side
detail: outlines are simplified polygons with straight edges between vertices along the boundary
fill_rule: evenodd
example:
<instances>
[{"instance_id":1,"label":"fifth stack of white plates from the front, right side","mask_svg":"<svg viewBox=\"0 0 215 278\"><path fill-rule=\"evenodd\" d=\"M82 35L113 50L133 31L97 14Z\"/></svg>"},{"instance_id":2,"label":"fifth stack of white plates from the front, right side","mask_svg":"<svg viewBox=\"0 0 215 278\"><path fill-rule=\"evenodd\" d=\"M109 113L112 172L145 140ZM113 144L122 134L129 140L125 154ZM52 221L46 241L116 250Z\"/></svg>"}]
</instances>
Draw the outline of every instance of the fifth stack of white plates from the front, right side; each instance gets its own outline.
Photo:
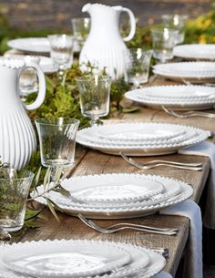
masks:
<instances>
[{"instance_id":1,"label":"fifth stack of white plates from the front, right side","mask_svg":"<svg viewBox=\"0 0 215 278\"><path fill-rule=\"evenodd\" d=\"M181 62L159 64L153 67L159 76L173 80L186 79L195 82L215 81L215 62Z\"/></svg>"}]
</instances>

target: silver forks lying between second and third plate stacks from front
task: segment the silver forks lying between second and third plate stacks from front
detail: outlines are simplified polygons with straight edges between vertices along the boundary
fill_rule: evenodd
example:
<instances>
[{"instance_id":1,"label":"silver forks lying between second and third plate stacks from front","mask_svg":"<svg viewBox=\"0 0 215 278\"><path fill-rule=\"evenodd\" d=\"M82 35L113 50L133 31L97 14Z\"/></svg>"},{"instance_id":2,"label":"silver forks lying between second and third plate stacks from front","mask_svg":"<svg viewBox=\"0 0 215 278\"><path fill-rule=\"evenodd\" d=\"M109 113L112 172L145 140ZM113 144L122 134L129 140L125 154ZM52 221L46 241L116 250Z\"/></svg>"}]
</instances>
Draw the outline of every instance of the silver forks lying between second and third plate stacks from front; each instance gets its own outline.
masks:
<instances>
[{"instance_id":1,"label":"silver forks lying between second and third plate stacks from front","mask_svg":"<svg viewBox=\"0 0 215 278\"><path fill-rule=\"evenodd\" d=\"M153 169L159 166L169 166L177 169L183 169L183 170L202 170L202 163L183 163L183 162L175 162L175 161L169 161L169 160L150 160L148 162L138 162L131 158L129 158L126 154L119 152L120 156L126 160L129 164L137 167L141 170L149 170Z\"/></svg>"}]
</instances>

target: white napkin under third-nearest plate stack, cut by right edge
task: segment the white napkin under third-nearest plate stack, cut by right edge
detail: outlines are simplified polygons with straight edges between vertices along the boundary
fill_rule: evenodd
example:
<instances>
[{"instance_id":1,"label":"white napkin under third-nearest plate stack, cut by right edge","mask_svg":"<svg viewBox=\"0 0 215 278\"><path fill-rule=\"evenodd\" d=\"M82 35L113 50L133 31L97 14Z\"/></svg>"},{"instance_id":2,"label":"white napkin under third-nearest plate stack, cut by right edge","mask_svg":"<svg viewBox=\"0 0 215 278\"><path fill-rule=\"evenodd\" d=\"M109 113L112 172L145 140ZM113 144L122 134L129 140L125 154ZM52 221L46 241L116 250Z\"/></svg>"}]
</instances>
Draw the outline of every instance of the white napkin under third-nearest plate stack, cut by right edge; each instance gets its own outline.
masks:
<instances>
[{"instance_id":1,"label":"white napkin under third-nearest plate stack, cut by right edge","mask_svg":"<svg viewBox=\"0 0 215 278\"><path fill-rule=\"evenodd\" d=\"M179 153L210 158L210 176L207 183L208 193L203 224L209 229L215 229L215 145L203 141L197 145L179 149Z\"/></svg>"}]
</instances>

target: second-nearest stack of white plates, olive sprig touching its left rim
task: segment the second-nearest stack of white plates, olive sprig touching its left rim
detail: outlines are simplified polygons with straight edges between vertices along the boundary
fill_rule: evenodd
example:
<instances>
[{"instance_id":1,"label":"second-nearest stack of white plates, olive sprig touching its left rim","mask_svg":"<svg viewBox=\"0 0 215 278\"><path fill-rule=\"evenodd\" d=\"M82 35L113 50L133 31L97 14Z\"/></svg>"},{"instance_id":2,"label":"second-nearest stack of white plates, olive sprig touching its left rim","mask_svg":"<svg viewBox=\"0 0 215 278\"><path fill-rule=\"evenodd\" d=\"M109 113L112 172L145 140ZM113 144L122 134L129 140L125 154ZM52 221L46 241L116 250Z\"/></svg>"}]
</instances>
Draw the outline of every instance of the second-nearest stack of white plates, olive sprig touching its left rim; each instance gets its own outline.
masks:
<instances>
[{"instance_id":1,"label":"second-nearest stack of white plates, olive sprig touching its left rim","mask_svg":"<svg viewBox=\"0 0 215 278\"><path fill-rule=\"evenodd\" d=\"M61 185L70 197L56 190L50 190L46 197L61 211L96 219L148 215L184 201L193 193L189 184L179 180L127 173L74 177L62 180ZM41 185L31 196L46 204L45 198L36 197L44 191Z\"/></svg>"}]
</instances>

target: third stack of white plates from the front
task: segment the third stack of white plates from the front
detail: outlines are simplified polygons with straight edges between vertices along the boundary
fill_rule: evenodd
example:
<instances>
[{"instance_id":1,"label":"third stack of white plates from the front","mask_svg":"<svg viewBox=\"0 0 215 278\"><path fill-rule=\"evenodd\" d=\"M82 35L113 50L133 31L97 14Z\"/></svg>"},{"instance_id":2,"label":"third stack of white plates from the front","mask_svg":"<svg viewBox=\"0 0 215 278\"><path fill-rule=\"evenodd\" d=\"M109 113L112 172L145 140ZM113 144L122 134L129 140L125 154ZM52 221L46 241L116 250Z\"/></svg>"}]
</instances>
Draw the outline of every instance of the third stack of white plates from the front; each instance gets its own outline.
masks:
<instances>
[{"instance_id":1,"label":"third stack of white plates from the front","mask_svg":"<svg viewBox=\"0 0 215 278\"><path fill-rule=\"evenodd\" d=\"M162 123L117 123L77 132L77 142L88 148L135 156L173 153L207 138L202 129Z\"/></svg>"}]
</instances>

